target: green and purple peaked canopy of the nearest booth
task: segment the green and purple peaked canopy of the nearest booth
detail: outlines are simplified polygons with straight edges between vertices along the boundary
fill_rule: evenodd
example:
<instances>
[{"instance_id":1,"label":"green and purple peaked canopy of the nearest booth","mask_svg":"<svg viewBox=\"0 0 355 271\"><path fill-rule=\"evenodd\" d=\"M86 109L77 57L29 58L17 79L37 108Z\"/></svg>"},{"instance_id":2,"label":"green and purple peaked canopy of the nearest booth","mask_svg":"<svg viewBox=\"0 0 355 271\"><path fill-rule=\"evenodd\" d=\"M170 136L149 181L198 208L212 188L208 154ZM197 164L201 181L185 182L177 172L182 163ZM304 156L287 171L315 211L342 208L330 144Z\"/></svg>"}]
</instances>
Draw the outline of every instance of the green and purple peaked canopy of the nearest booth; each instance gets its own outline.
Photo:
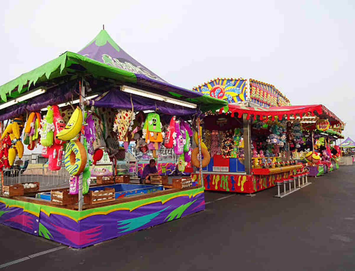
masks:
<instances>
[{"instance_id":1,"label":"green and purple peaked canopy of the nearest booth","mask_svg":"<svg viewBox=\"0 0 355 271\"><path fill-rule=\"evenodd\" d=\"M131 85L155 94L195 103L201 111L218 110L227 105L225 101L166 83L125 53L105 30L79 53L67 51L31 72L1 85L1 102L16 98L35 87L53 86L58 82L81 77L107 80L111 86ZM31 103L31 100L27 102ZM3 111L0 112L2 114Z\"/></svg>"}]
</instances>

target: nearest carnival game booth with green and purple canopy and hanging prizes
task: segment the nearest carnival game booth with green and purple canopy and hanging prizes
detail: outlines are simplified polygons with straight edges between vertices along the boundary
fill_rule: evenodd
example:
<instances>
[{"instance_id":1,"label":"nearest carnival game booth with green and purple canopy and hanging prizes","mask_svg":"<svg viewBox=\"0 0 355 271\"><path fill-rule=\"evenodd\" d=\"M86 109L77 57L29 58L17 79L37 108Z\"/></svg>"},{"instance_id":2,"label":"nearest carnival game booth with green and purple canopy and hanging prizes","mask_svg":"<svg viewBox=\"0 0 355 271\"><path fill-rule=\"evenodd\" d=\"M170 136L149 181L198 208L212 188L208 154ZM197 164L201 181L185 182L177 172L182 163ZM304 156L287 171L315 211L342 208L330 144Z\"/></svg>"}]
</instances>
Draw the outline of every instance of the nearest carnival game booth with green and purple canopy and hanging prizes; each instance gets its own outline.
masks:
<instances>
[{"instance_id":1,"label":"nearest carnival game booth with green and purple canopy and hanging prizes","mask_svg":"<svg viewBox=\"0 0 355 271\"><path fill-rule=\"evenodd\" d=\"M186 141L194 129L188 120L196 120L198 127L202 112L226 105L166 83L127 55L105 30L79 53L65 52L0 86L0 96L0 120L9 120L1 127L3 168L21 159L24 147L37 146L49 158L50 170L61 169L64 157L71 175L70 187L51 191L42 191L36 179L8 185L2 178L1 224L82 248L204 209L203 183L192 186L191 178L180 177L168 190L162 190L164 178L159 176L137 188L122 175L101 176L90 185L102 149L112 161L121 159L126 149L118 141L128 145L129 136L143 139L137 139L141 151L150 143L153 151L165 143L166 148L177 146L183 169L190 157ZM141 114L146 110L153 112ZM169 136L170 131L175 134ZM137 193L121 193L125 191Z\"/></svg>"}]
</instances>

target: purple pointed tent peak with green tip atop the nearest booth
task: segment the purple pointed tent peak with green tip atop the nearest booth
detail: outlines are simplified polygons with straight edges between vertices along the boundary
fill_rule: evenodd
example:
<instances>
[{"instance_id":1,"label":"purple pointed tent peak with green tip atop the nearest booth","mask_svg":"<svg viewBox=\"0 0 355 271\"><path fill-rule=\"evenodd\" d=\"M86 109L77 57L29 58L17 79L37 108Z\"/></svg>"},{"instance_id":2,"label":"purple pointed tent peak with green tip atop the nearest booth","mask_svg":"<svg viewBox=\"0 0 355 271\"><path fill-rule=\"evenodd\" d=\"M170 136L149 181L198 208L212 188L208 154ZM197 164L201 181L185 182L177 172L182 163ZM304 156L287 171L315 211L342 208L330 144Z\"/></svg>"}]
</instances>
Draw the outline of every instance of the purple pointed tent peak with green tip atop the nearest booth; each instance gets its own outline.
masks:
<instances>
[{"instance_id":1,"label":"purple pointed tent peak with green tip atop the nearest booth","mask_svg":"<svg viewBox=\"0 0 355 271\"><path fill-rule=\"evenodd\" d=\"M105 63L109 66L127 70L135 74L142 74L148 78L167 83L164 79L160 78L122 50L106 30L101 30L88 45L78 52L78 54Z\"/></svg>"}]
</instances>

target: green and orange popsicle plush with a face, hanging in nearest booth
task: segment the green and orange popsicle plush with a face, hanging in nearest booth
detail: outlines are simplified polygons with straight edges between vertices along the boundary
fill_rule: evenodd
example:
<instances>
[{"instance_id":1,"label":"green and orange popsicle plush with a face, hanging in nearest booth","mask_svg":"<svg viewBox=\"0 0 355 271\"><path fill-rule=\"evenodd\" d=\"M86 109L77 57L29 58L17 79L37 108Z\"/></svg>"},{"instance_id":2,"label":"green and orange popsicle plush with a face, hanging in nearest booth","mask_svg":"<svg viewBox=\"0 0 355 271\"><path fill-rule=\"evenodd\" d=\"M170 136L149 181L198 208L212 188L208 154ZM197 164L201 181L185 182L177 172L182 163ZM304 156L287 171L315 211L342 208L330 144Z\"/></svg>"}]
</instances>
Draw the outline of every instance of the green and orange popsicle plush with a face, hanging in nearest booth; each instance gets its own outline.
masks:
<instances>
[{"instance_id":1,"label":"green and orange popsicle plush with a face, hanging in nearest booth","mask_svg":"<svg viewBox=\"0 0 355 271\"><path fill-rule=\"evenodd\" d=\"M154 149L158 149L158 142L163 141L162 123L157 113L149 113L144 123L143 130L146 130L146 142L154 142Z\"/></svg>"}]
</instances>

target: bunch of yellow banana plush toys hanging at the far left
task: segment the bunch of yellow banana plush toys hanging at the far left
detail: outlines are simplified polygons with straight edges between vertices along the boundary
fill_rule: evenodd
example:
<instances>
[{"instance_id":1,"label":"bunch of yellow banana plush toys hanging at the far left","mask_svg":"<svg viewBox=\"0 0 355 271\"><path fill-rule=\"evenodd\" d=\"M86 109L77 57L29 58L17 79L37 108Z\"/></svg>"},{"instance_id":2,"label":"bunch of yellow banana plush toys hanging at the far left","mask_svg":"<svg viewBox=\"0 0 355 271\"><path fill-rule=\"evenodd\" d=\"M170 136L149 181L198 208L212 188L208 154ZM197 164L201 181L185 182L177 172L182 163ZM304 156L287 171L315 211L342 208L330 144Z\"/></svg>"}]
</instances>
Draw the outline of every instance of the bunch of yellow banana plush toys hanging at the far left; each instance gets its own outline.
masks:
<instances>
[{"instance_id":1,"label":"bunch of yellow banana plush toys hanging at the far left","mask_svg":"<svg viewBox=\"0 0 355 271\"><path fill-rule=\"evenodd\" d=\"M20 136L22 134L23 129L23 117L18 117L11 120L10 124L8 124L4 130L4 133L1 136L1 139L4 139L7 135L10 136L11 139L11 147L9 148L9 164L13 165L13 162L16 158L16 153L18 158L22 158L23 154L23 144L21 142Z\"/></svg>"}]
</instances>

